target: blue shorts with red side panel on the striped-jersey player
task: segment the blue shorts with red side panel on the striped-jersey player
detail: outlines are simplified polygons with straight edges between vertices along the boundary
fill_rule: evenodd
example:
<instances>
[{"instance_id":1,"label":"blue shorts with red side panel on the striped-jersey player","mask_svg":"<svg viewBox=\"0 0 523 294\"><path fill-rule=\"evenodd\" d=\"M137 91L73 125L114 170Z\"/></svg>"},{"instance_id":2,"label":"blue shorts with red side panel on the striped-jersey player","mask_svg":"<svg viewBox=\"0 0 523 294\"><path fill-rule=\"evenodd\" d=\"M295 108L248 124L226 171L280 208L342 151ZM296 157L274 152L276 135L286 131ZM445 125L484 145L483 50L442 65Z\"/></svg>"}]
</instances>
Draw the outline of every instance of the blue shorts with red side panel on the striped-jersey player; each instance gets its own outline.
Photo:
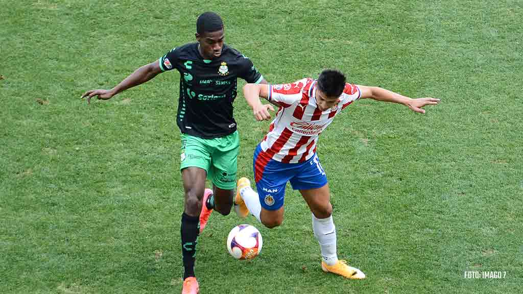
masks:
<instances>
[{"instance_id":1,"label":"blue shorts with red side panel on the striped-jersey player","mask_svg":"<svg viewBox=\"0 0 523 294\"><path fill-rule=\"evenodd\" d=\"M300 163L281 163L267 158L267 153L258 144L253 157L254 178L261 207L267 210L283 206L287 182L294 190L316 189L327 184L327 176L316 154Z\"/></svg>"}]
</instances>

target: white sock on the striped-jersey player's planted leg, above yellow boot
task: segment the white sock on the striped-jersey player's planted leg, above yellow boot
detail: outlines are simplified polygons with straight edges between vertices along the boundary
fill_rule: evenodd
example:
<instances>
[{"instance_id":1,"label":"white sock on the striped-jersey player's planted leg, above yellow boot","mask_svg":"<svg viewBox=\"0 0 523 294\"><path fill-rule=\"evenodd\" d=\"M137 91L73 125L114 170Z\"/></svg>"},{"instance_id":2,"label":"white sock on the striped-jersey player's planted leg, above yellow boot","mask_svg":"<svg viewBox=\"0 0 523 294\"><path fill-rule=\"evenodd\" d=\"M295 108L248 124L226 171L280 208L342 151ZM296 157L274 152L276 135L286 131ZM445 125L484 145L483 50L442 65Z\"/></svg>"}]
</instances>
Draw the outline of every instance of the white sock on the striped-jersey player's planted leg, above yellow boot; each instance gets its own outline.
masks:
<instances>
[{"instance_id":1,"label":"white sock on the striped-jersey player's planted leg, above yellow boot","mask_svg":"<svg viewBox=\"0 0 523 294\"><path fill-rule=\"evenodd\" d=\"M336 254L336 227L332 216L326 219L317 219L312 214L312 230L322 248L323 261L327 265L335 265L338 262L338 255Z\"/></svg>"}]
</instances>

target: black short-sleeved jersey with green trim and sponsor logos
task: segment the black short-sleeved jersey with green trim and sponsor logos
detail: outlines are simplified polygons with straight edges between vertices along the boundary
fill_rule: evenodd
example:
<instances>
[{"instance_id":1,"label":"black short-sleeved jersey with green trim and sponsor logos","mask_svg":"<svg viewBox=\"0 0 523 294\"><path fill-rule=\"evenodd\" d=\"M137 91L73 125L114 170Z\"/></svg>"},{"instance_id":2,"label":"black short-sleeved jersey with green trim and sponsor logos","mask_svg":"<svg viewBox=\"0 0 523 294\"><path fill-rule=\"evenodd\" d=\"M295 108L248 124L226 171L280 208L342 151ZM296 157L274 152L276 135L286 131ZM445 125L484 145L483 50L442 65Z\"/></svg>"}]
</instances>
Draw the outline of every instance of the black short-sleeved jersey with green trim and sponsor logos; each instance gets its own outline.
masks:
<instances>
[{"instance_id":1,"label":"black short-sleeved jersey with green trim and sponsor logos","mask_svg":"<svg viewBox=\"0 0 523 294\"><path fill-rule=\"evenodd\" d=\"M180 72L180 98L176 123L182 133L204 139L223 137L236 131L233 101L238 77L248 83L263 80L251 60L223 45L222 54L203 59L198 43L174 48L158 60L162 71Z\"/></svg>"}]
</instances>

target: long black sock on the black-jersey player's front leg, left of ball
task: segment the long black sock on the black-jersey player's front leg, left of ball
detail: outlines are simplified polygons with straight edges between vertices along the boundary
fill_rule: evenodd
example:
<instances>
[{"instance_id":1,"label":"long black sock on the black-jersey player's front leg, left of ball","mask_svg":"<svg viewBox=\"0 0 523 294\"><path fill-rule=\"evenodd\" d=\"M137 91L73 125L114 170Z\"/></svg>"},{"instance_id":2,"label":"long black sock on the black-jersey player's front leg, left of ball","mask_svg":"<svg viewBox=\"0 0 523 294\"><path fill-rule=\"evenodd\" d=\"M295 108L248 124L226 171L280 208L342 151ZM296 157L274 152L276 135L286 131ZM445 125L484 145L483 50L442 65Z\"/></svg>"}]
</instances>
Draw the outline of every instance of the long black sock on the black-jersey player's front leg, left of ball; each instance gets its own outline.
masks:
<instances>
[{"instance_id":1,"label":"long black sock on the black-jersey player's front leg, left of ball","mask_svg":"<svg viewBox=\"0 0 523 294\"><path fill-rule=\"evenodd\" d=\"M200 218L181 214L181 254L184 261L184 280L195 276L196 245L200 234Z\"/></svg>"}]
</instances>

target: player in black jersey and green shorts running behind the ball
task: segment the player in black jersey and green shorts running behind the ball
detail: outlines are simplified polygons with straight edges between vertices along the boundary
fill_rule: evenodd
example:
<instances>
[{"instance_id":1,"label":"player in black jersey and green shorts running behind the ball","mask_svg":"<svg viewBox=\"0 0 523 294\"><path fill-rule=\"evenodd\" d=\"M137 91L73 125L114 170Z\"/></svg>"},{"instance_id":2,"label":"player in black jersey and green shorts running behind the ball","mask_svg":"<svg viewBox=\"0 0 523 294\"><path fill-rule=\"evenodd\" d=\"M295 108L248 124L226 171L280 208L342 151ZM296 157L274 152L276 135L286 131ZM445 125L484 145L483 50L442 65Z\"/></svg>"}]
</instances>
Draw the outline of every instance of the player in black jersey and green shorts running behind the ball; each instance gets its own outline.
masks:
<instances>
[{"instance_id":1,"label":"player in black jersey and green shorts running behind the ball","mask_svg":"<svg viewBox=\"0 0 523 294\"><path fill-rule=\"evenodd\" d=\"M227 215L233 205L240 145L232 105L237 94L236 80L239 77L248 83L267 83L251 60L224 43L219 15L201 14L196 30L197 42L176 47L141 66L112 89L90 90L82 95L88 103L93 97L106 100L162 72L176 69L180 73L176 123L181 131L180 171L185 189L180 229L182 293L199 292L194 263L200 225L204 227L213 209ZM269 108L256 109L254 114L266 118ZM212 180L212 190L205 188L206 178Z\"/></svg>"}]
</instances>

